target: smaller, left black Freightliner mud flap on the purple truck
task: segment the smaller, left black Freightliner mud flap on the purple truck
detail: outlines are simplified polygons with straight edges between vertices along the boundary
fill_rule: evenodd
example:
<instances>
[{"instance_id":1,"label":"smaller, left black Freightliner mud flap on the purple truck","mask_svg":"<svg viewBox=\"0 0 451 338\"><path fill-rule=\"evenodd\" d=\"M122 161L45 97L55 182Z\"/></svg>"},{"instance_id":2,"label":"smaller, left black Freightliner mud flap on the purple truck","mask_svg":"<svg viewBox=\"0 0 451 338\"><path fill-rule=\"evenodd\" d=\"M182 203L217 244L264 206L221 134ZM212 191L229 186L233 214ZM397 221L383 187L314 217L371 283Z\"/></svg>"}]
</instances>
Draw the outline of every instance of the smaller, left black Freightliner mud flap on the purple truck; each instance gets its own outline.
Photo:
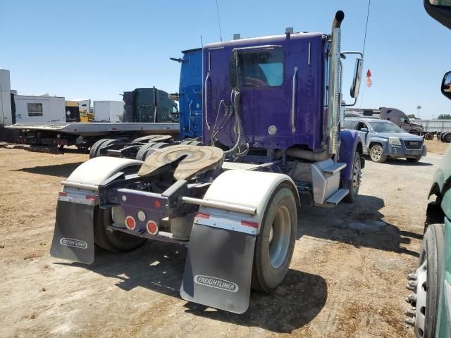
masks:
<instances>
[{"instance_id":1,"label":"smaller, left black Freightliner mud flap on the purple truck","mask_svg":"<svg viewBox=\"0 0 451 338\"><path fill-rule=\"evenodd\" d=\"M50 255L80 263L94 261L94 206L58 201Z\"/></svg>"}]
</instances>

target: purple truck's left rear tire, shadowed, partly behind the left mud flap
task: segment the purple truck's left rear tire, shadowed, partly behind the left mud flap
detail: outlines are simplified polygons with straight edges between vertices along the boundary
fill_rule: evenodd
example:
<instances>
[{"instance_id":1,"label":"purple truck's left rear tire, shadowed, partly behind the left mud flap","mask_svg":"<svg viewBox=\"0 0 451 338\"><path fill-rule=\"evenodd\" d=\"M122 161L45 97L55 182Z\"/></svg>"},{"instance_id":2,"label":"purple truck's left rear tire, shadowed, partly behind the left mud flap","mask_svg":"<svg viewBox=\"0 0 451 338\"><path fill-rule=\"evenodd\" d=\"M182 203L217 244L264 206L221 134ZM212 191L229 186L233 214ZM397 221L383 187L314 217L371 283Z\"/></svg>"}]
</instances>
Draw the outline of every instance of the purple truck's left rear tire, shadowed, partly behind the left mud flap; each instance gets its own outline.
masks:
<instances>
[{"instance_id":1,"label":"purple truck's left rear tire, shadowed, partly behind the left mud flap","mask_svg":"<svg viewBox=\"0 0 451 338\"><path fill-rule=\"evenodd\" d=\"M94 209L94 243L101 249L113 252L132 251L147 241L143 237L121 231L111 232L107 227L112 224L111 209L101 209L97 206Z\"/></svg>"}]
</instances>

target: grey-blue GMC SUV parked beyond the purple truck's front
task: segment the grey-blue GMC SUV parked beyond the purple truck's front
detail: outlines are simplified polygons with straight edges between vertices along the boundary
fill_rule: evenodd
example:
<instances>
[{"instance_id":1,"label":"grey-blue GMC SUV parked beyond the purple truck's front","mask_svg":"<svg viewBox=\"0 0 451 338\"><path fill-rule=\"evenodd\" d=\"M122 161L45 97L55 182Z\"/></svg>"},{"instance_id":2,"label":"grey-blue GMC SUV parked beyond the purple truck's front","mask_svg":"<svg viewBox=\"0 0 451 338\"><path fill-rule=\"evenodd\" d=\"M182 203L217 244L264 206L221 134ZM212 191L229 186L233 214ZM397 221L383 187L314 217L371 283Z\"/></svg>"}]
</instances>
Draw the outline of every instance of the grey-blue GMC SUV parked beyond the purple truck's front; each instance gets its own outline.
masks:
<instances>
[{"instance_id":1,"label":"grey-blue GMC SUV parked beyond the purple truck's front","mask_svg":"<svg viewBox=\"0 0 451 338\"><path fill-rule=\"evenodd\" d=\"M357 130L363 144L363 152L371 161L382 163L388 157L406 158L418 162L426 156L423 137L409 134L395 123L378 118L345 118L343 129Z\"/></svg>"}]
</instances>

